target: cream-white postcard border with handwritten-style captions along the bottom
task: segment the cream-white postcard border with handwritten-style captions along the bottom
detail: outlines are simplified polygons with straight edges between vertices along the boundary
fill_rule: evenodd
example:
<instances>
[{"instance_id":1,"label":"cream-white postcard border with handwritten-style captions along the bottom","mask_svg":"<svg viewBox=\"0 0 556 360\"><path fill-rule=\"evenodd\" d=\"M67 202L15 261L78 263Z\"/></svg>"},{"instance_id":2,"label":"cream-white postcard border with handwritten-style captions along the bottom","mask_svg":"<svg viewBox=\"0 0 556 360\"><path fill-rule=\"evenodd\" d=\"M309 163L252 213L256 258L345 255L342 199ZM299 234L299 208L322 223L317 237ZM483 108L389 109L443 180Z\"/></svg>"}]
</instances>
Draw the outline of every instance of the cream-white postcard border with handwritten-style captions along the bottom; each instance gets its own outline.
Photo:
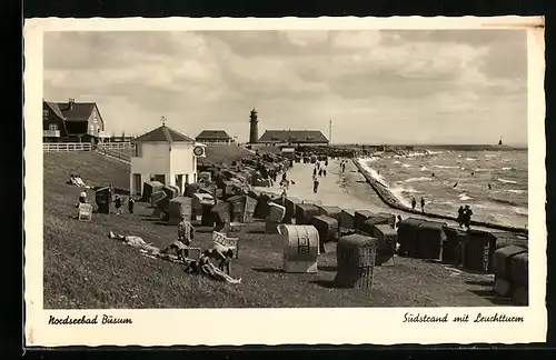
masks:
<instances>
[{"instance_id":1,"label":"cream-white postcard border with handwritten-style captions along the bottom","mask_svg":"<svg viewBox=\"0 0 556 360\"><path fill-rule=\"evenodd\" d=\"M546 216L544 20L498 18L317 18L317 19L29 19L24 24L24 300L28 347L172 344L396 344L528 343L546 340ZM529 306L493 308L389 309L153 309L43 310L42 286L42 33L44 31L123 30L360 30L476 29L528 30ZM39 210L40 209L40 210ZM403 323L404 314L449 317L495 312L524 322ZM54 317L130 318L132 324L49 326ZM226 327L214 324L226 317ZM195 324L191 327L190 324ZM191 329L196 331L191 331ZM152 329L156 329L152 331ZM150 331L147 331L150 330Z\"/></svg>"}]
</instances>

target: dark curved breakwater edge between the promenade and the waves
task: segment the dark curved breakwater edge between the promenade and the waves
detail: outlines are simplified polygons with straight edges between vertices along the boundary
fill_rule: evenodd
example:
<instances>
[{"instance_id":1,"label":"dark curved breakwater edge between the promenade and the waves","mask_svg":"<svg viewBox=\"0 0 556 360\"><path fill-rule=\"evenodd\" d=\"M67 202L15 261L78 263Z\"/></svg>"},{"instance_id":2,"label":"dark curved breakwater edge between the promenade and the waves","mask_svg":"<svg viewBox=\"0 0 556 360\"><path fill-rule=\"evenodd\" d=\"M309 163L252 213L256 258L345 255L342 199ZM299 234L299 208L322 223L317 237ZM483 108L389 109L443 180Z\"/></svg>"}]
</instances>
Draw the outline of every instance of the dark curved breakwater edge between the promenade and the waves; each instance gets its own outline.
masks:
<instances>
[{"instance_id":1,"label":"dark curved breakwater edge between the promenade and the waves","mask_svg":"<svg viewBox=\"0 0 556 360\"><path fill-rule=\"evenodd\" d=\"M449 221L457 221L455 217L449 217L445 214L439 214L439 213L434 213L434 212L421 212L418 210L414 210L411 208L408 208L404 203L401 203L395 196L391 193L391 191L386 188L384 184L381 184L379 181L377 181L373 176L370 176L363 167L361 164L357 161L357 159L351 160L354 164L357 167L360 173L365 177L369 186L375 190L377 196L380 198L380 200L387 204L391 209L396 209L398 211L403 211L405 213L409 214L416 214L416 216L424 216L430 219L438 219L438 220L449 220ZM498 223L492 223L492 222L485 222L485 221L475 221L471 220L470 222L471 226L476 227L483 227L487 229L495 229L495 230L502 230L502 231L509 231L514 233L523 233L527 234L527 229L523 228L516 228L516 227L508 227L508 226L503 226Z\"/></svg>"}]
</instances>

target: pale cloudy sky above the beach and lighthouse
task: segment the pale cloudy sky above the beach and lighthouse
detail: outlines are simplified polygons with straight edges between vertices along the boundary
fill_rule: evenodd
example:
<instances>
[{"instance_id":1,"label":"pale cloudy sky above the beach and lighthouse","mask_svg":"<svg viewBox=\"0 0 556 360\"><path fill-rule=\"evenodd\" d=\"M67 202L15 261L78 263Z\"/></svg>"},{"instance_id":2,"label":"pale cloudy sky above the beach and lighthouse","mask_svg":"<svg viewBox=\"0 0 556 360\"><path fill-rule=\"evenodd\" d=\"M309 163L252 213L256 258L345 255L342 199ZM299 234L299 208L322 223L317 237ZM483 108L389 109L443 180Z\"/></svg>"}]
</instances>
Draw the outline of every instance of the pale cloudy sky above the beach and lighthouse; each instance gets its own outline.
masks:
<instances>
[{"instance_id":1,"label":"pale cloudy sky above the beach and lighthouse","mask_svg":"<svg viewBox=\"0 0 556 360\"><path fill-rule=\"evenodd\" d=\"M111 133L321 130L332 143L527 143L524 30L44 34L43 98Z\"/></svg>"}]
</instances>

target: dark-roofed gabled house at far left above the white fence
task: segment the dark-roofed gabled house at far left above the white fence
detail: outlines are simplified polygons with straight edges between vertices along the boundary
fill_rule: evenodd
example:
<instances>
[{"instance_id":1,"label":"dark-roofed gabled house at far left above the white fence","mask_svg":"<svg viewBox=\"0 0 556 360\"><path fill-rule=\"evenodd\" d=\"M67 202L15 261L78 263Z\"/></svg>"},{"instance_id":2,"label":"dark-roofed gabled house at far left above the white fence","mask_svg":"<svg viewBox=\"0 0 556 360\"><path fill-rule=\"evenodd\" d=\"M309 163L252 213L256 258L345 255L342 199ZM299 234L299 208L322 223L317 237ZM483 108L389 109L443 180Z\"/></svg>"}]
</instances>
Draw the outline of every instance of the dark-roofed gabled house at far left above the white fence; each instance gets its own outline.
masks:
<instances>
[{"instance_id":1,"label":"dark-roofed gabled house at far left above the white fence","mask_svg":"<svg viewBox=\"0 0 556 360\"><path fill-rule=\"evenodd\" d=\"M105 120L96 102L42 101L43 141L96 142L105 131Z\"/></svg>"}]
</instances>

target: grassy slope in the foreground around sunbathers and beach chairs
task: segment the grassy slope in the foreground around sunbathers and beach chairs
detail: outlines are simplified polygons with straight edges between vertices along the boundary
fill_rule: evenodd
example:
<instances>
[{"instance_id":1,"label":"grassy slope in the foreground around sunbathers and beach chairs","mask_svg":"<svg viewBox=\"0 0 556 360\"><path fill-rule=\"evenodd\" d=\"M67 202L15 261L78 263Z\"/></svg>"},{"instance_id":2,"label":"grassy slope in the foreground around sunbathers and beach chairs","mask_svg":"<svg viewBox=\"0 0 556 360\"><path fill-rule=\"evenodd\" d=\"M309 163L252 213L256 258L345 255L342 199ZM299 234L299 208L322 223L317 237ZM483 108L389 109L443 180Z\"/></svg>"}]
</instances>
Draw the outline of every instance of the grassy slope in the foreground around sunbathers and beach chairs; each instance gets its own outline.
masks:
<instances>
[{"instance_id":1,"label":"grassy slope in the foreground around sunbathers and beach chairs","mask_svg":"<svg viewBox=\"0 0 556 360\"><path fill-rule=\"evenodd\" d=\"M44 308L246 308L246 307L438 307L494 306L492 278L450 270L417 259L396 258L395 267L376 268L373 290L330 288L336 254L319 258L317 274L281 272L281 238L261 233L264 223L239 233L241 250L226 284L186 274L180 264L147 258L109 239L108 232L142 237L163 248L177 227L153 220L152 209L137 202L136 213L98 214L81 222L71 172L86 183L112 183L126 193L129 166L95 152L44 153ZM93 191L89 197L93 199ZM195 242L210 246L210 229L199 228ZM334 247L332 247L334 249Z\"/></svg>"}]
</instances>

